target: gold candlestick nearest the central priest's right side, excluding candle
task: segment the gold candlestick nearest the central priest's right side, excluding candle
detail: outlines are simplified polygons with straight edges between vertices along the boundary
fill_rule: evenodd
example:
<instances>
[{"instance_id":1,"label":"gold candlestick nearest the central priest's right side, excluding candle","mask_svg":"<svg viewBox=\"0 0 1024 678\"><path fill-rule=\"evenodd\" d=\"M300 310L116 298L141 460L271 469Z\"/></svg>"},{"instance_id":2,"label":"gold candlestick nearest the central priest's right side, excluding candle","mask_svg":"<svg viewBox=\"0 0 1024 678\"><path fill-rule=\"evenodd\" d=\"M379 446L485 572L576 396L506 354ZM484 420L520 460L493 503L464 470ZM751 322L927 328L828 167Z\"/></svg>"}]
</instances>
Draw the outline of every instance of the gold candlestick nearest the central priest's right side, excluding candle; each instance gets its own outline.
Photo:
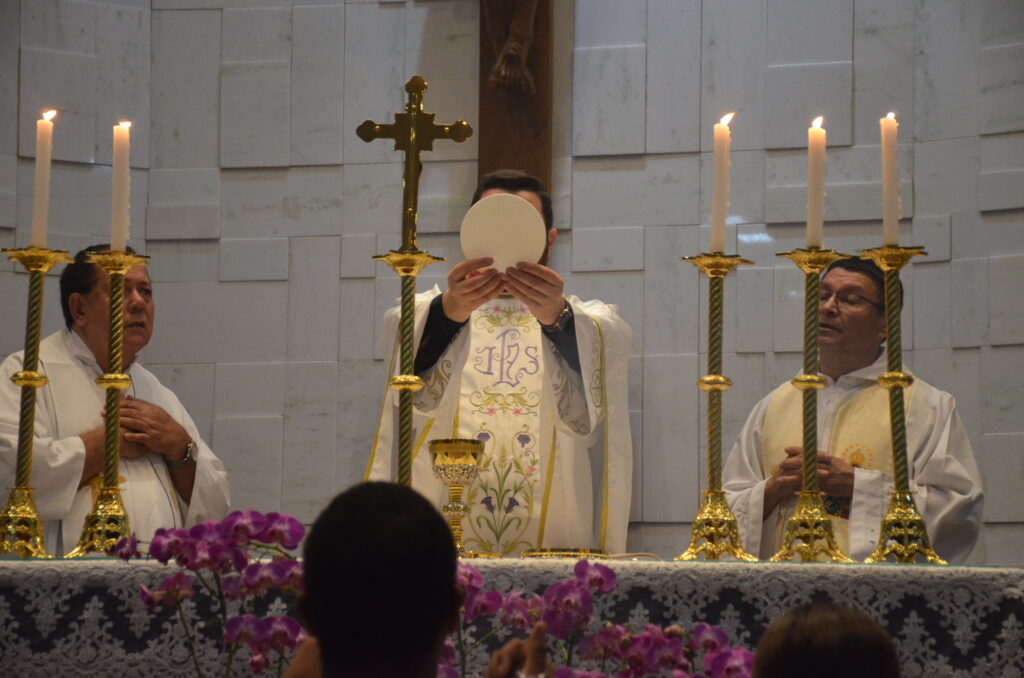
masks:
<instances>
[{"instance_id":1,"label":"gold candlestick nearest the central priest's right side, excluding candle","mask_svg":"<svg viewBox=\"0 0 1024 678\"><path fill-rule=\"evenodd\" d=\"M722 313L725 306L725 277L736 266L753 261L739 255L721 252L683 257L700 269L709 281L708 304L708 374L697 380L697 387L708 392L708 491L693 520L690 546L676 560L718 560L728 553L737 560L755 561L739 539L736 516L722 492L722 391L732 387L732 381L722 376Z\"/></svg>"}]
</instances>

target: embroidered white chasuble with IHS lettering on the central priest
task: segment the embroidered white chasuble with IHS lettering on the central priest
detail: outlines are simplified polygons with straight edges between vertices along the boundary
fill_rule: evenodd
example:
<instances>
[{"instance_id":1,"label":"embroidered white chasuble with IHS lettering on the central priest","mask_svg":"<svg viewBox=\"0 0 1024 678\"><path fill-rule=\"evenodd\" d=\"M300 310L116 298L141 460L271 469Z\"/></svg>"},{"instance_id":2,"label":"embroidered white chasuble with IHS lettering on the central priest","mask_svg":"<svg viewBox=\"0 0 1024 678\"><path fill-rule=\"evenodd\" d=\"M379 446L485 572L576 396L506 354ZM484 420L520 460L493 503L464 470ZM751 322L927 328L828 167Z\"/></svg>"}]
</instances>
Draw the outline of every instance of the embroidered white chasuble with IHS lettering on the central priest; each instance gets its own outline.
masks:
<instances>
[{"instance_id":1,"label":"embroidered white chasuble with IHS lettering on the central priest","mask_svg":"<svg viewBox=\"0 0 1024 678\"><path fill-rule=\"evenodd\" d=\"M417 342L439 293L435 288L417 297ZM440 507L447 491L433 477L427 440L457 432L483 441L480 475L463 495L470 507L463 541L471 550L518 555L534 548L626 548L629 327L607 304L569 302L582 374L557 354L522 303L498 298L474 311L437 365L420 375L426 386L415 397L413 486ZM396 324L397 312L386 320ZM385 394L367 477L391 479L395 473L397 400ZM592 447L600 464L595 477L606 479L596 493L596 515Z\"/></svg>"}]
</instances>

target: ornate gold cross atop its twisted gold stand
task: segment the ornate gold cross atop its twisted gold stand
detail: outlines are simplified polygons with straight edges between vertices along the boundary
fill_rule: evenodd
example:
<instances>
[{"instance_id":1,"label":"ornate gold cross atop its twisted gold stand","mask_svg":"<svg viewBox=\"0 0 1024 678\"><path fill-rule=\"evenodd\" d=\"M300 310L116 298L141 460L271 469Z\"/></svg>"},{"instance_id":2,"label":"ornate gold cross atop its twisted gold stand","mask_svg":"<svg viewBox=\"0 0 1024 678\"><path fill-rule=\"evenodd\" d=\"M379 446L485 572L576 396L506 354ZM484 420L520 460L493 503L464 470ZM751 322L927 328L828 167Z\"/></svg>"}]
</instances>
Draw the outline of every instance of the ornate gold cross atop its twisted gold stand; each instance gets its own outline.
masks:
<instances>
[{"instance_id":1,"label":"ornate gold cross atop its twisted gold stand","mask_svg":"<svg viewBox=\"0 0 1024 678\"><path fill-rule=\"evenodd\" d=\"M401 277L401 314L398 322L399 367L401 374L388 383L398 391L398 475L397 482L409 485L413 479L413 393L423 388L423 380L414 374L413 311L416 295L416 277L434 261L443 261L423 252L416 245L417 202L419 198L421 151L433 151L435 139L465 141L473 133L464 121L451 125L434 123L433 113L424 113L423 93L427 83L421 76L413 76L406 83L409 100L404 113L394 114L394 123L381 125L372 120L364 121L355 133L366 142L374 139L394 139L394 150L406 154L402 174L401 247L374 259L387 263Z\"/></svg>"}]
</instances>

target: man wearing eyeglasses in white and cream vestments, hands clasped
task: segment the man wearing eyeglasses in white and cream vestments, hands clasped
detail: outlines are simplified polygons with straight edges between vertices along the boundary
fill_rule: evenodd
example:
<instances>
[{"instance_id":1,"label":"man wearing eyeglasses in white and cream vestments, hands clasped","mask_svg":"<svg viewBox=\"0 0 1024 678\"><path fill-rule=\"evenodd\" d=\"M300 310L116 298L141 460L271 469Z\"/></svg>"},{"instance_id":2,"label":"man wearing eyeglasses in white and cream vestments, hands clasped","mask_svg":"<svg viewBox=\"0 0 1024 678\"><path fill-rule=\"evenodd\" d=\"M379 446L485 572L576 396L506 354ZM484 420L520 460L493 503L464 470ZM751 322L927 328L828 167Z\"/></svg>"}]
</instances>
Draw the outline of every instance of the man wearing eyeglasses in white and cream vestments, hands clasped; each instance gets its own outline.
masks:
<instances>
[{"instance_id":1,"label":"man wearing eyeglasses in white and cream vestments, hands clasped","mask_svg":"<svg viewBox=\"0 0 1024 678\"><path fill-rule=\"evenodd\" d=\"M837 542L855 560L874 551L893 490L884 276L841 259L818 299L818 485ZM902 289L900 290L902 295ZM905 369L905 368L904 368ZM963 562L978 539L981 476L952 395L920 378L904 391L910 490L932 545ZM743 545L769 558L782 546L802 484L802 391L785 382L755 406L724 469L723 489Z\"/></svg>"}]
</instances>

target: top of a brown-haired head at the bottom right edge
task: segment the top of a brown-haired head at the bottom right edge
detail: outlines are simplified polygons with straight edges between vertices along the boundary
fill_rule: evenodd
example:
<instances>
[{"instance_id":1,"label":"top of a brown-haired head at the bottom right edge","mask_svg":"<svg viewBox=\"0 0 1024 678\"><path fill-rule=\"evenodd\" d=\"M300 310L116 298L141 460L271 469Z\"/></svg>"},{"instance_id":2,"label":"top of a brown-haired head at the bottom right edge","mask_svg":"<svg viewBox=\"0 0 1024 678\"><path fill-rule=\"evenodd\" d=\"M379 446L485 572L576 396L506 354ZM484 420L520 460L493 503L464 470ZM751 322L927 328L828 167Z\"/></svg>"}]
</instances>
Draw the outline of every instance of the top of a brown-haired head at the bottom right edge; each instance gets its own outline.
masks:
<instances>
[{"instance_id":1,"label":"top of a brown-haired head at the bottom right edge","mask_svg":"<svg viewBox=\"0 0 1024 678\"><path fill-rule=\"evenodd\" d=\"M795 607L768 627L754 678L899 678L889 633L867 615L835 602Z\"/></svg>"}]
</instances>

